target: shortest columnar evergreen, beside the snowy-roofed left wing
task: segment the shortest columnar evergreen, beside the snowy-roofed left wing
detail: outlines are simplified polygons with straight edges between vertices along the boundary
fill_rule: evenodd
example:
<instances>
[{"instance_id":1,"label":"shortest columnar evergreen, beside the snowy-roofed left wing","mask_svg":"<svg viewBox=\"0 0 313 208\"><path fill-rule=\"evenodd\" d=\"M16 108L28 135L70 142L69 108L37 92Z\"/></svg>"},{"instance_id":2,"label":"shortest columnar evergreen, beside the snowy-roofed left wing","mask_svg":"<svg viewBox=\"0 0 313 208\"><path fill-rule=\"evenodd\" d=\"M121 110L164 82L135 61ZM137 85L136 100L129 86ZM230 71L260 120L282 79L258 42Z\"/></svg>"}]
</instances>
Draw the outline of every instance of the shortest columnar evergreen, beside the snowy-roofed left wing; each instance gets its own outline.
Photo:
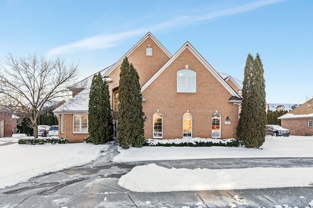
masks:
<instances>
[{"instance_id":1,"label":"shortest columnar evergreen, beside the snowy-roofed left wing","mask_svg":"<svg viewBox=\"0 0 313 208\"><path fill-rule=\"evenodd\" d=\"M113 140L110 94L107 81L101 74L93 76L89 93L89 139L94 144Z\"/></svg>"}]
</instances>

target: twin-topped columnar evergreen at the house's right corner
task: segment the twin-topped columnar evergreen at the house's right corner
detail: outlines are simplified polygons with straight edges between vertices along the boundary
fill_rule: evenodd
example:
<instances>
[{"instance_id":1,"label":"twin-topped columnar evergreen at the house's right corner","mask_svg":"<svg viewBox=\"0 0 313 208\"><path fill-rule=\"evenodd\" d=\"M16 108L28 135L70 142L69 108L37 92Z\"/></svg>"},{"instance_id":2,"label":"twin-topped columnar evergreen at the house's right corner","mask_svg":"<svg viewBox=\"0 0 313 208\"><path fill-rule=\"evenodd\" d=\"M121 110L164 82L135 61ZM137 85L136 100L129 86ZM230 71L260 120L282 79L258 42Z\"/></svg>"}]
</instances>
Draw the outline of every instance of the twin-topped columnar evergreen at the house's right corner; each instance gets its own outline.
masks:
<instances>
[{"instance_id":1,"label":"twin-topped columnar evergreen at the house's right corner","mask_svg":"<svg viewBox=\"0 0 313 208\"><path fill-rule=\"evenodd\" d=\"M247 148L259 148L265 142L266 93L263 64L259 54L246 59L243 102L237 136Z\"/></svg>"}]
</instances>

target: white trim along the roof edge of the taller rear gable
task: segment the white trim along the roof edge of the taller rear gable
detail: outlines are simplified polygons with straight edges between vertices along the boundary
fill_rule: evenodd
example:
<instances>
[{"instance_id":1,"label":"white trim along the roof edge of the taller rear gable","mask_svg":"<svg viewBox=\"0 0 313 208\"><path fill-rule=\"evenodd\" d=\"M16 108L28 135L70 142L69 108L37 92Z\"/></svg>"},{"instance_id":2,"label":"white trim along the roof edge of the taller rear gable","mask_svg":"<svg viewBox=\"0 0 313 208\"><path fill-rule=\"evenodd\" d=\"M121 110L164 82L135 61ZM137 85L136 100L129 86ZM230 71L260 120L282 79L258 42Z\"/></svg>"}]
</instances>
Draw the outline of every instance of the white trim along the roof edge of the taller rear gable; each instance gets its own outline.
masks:
<instances>
[{"instance_id":1,"label":"white trim along the roof edge of the taller rear gable","mask_svg":"<svg viewBox=\"0 0 313 208\"><path fill-rule=\"evenodd\" d=\"M124 60L125 57L128 57L130 54L132 54L147 38L151 38L156 45L170 58L172 55L170 52L164 48L164 46L150 33L148 32L143 38L141 38L123 57L121 57L115 64L112 65L112 67L103 74L103 76L109 76L110 73L118 67Z\"/></svg>"}]
</instances>

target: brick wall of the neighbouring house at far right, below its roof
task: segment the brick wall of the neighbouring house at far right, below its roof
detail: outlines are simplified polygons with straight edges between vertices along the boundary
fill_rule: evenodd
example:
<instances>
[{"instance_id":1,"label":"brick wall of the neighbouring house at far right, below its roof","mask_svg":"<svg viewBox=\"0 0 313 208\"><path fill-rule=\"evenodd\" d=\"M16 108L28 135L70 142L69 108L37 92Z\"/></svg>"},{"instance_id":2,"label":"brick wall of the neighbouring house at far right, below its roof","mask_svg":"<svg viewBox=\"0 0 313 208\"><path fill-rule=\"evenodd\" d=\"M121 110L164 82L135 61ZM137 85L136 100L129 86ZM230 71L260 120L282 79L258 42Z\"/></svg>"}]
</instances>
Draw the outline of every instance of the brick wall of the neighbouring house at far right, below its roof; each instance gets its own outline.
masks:
<instances>
[{"instance_id":1,"label":"brick wall of the neighbouring house at far right, below its roof","mask_svg":"<svg viewBox=\"0 0 313 208\"><path fill-rule=\"evenodd\" d=\"M289 129L290 135L297 136L312 136L313 128L308 127L308 122L313 120L312 118L301 118L301 119L282 119L282 127Z\"/></svg>"}]
</instances>

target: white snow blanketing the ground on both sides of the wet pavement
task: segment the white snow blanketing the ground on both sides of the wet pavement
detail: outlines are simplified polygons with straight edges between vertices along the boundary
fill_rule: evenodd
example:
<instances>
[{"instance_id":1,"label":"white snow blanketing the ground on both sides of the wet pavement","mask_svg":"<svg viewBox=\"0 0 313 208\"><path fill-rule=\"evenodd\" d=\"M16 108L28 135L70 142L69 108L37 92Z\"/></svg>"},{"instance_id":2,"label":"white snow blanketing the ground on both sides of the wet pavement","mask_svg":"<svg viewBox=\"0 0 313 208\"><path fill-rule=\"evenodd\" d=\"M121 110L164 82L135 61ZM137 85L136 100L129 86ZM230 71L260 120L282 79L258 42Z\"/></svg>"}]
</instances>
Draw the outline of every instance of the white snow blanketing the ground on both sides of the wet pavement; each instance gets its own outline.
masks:
<instances>
[{"instance_id":1,"label":"white snow blanketing the ground on both sides of the wet pavement","mask_svg":"<svg viewBox=\"0 0 313 208\"><path fill-rule=\"evenodd\" d=\"M0 144L17 141L22 134L0 138ZM200 140L193 138L189 141ZM203 140L203 139L202 139ZM206 140L206 139L204 139ZM212 140L212 139L207 139ZM176 140L176 142L181 139ZM163 141L164 142L164 141ZM0 146L0 188L45 172L62 170L94 160L110 145L61 144ZM259 149L243 147L143 147L119 149L114 162L203 158L313 157L313 136L267 136ZM311 186L313 168L166 169L155 164L137 166L119 180L134 191L249 189Z\"/></svg>"}]
</instances>

